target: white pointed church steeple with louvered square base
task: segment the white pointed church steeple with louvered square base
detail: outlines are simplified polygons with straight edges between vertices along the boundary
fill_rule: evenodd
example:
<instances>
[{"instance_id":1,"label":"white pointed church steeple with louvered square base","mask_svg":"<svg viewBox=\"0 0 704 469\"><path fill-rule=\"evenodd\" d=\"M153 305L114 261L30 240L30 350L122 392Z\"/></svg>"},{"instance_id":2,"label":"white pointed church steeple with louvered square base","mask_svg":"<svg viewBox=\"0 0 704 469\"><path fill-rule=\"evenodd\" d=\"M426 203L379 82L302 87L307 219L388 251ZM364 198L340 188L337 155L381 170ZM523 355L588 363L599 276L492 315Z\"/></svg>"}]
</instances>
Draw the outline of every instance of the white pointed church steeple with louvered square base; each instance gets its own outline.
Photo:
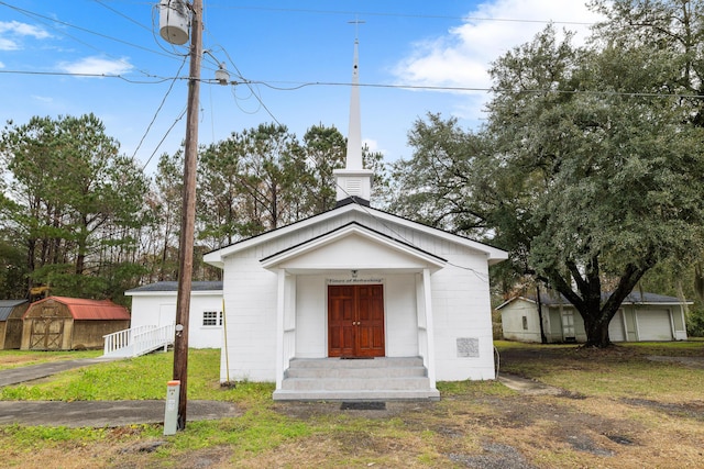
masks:
<instances>
[{"instance_id":1,"label":"white pointed church steeple with louvered square base","mask_svg":"<svg viewBox=\"0 0 704 469\"><path fill-rule=\"evenodd\" d=\"M352 88L350 92L350 126L348 129L348 150L344 169L336 169L338 205L358 202L370 204L374 172L364 169L362 160L362 116L360 112L360 59L359 40L354 40L352 65Z\"/></svg>"}]
</instances>

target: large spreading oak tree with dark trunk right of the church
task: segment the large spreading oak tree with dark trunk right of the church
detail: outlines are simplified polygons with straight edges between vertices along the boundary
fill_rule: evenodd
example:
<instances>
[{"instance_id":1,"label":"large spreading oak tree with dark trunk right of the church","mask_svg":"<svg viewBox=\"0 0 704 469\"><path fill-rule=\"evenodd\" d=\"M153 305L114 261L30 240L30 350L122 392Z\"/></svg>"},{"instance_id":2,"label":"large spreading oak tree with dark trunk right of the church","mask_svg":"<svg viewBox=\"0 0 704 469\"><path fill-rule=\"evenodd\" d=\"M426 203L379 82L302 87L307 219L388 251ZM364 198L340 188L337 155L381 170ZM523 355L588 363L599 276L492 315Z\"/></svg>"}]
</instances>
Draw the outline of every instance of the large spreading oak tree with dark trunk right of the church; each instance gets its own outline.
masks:
<instances>
[{"instance_id":1,"label":"large spreading oak tree with dark trunk right of the church","mask_svg":"<svg viewBox=\"0 0 704 469\"><path fill-rule=\"evenodd\" d=\"M479 132L416 123L397 175L417 189L398 203L507 248L516 272L579 310L587 345L607 346L638 280L702 248L704 133L698 101L664 85L673 60L638 42L574 47L547 27L493 64Z\"/></svg>"}]
</instances>

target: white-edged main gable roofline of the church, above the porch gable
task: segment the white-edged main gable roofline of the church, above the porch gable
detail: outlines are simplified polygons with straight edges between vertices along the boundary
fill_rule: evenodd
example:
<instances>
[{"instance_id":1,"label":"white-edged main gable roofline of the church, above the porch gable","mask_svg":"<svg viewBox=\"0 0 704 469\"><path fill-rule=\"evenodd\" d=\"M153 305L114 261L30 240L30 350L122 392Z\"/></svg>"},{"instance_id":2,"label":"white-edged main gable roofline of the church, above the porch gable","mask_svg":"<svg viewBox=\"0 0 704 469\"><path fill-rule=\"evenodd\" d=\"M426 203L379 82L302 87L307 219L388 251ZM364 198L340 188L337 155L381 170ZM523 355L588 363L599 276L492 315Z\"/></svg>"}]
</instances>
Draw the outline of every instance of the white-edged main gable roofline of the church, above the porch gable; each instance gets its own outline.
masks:
<instances>
[{"instance_id":1,"label":"white-edged main gable roofline of the church, above the porch gable","mask_svg":"<svg viewBox=\"0 0 704 469\"><path fill-rule=\"evenodd\" d=\"M272 230L266 233L262 233L260 235L239 241L237 243L233 243L220 249L212 250L210 253L207 253L204 256L204 260L210 265L222 267L223 266L222 259L234 253L241 252L243 249L248 249L250 247L260 245L262 243L276 239L279 236L285 236L298 230L302 230L305 227L315 225L317 223L326 222L328 220L332 220L334 217L342 216L349 213L366 214L376 220L380 220L382 223L388 222L388 223L399 224L404 227L408 227L410 230L415 230L415 231L428 234L430 236L439 237L441 239L460 244L464 247L477 250L480 253L484 253L486 255L486 258L490 265L499 263L508 258L508 253L506 253L505 250L498 249L487 244L483 244L483 243L470 239L465 236L457 235L454 233L450 233L443 230L435 228L432 226L424 225L421 223L414 222L408 219L404 219L402 216L397 216L378 209L373 209L371 206L363 206L359 203L348 203L345 205L337 206L336 209L310 216L308 219L300 220L289 225L282 226L279 228ZM409 244L408 242L400 241L400 239L397 239L397 242Z\"/></svg>"}]
</instances>

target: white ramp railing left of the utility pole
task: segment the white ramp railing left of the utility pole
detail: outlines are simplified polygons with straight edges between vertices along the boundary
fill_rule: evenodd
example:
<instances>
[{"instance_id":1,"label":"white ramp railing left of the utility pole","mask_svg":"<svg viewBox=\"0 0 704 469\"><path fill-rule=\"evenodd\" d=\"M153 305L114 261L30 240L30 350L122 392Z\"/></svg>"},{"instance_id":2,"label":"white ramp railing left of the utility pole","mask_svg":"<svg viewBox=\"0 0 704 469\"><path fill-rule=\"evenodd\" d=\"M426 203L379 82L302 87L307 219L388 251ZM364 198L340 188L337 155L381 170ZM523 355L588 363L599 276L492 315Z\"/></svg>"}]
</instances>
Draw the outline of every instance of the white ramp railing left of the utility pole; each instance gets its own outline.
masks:
<instances>
[{"instance_id":1,"label":"white ramp railing left of the utility pole","mask_svg":"<svg viewBox=\"0 0 704 469\"><path fill-rule=\"evenodd\" d=\"M139 357L157 348L164 351L174 343L175 327L139 326L102 336L105 340L103 357Z\"/></svg>"}]
</instances>

